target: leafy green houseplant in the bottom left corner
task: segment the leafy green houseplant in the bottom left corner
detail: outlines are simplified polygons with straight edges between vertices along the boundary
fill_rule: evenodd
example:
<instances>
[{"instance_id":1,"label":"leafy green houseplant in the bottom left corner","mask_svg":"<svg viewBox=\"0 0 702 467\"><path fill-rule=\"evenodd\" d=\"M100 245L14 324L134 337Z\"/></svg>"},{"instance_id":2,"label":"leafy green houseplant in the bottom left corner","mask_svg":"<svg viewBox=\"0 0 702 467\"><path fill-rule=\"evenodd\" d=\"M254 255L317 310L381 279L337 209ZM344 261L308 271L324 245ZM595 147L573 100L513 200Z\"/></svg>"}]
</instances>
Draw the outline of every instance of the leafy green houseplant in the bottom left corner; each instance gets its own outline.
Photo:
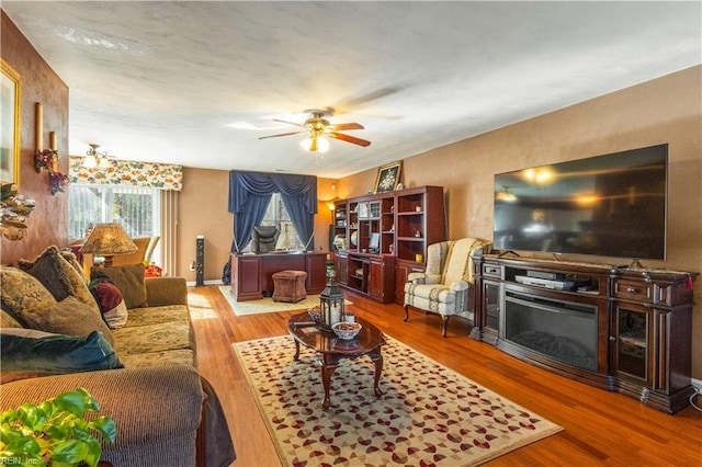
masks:
<instances>
[{"instance_id":1,"label":"leafy green houseplant in the bottom left corner","mask_svg":"<svg viewBox=\"0 0 702 467\"><path fill-rule=\"evenodd\" d=\"M98 401L82 388L34 406L24 403L0 414L0 464L19 466L91 466L100 460L98 433L114 443L117 429L98 412Z\"/></svg>"}]
</instances>

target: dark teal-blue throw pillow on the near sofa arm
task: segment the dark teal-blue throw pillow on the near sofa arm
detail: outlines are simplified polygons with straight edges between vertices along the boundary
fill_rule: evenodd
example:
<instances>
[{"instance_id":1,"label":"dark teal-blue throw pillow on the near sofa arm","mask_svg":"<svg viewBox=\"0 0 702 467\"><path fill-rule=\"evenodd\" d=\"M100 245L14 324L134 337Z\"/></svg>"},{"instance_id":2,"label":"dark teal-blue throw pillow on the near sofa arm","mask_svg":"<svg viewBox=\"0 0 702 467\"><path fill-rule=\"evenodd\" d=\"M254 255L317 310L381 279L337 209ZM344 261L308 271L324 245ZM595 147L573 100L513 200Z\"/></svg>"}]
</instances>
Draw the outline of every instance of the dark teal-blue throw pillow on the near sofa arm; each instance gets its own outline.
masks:
<instances>
[{"instance_id":1,"label":"dark teal-blue throw pillow on the near sofa arm","mask_svg":"<svg viewBox=\"0 0 702 467\"><path fill-rule=\"evenodd\" d=\"M38 338L1 333L3 372L46 374L93 372L124 367L99 331L88 335L50 334Z\"/></svg>"}]
</instances>

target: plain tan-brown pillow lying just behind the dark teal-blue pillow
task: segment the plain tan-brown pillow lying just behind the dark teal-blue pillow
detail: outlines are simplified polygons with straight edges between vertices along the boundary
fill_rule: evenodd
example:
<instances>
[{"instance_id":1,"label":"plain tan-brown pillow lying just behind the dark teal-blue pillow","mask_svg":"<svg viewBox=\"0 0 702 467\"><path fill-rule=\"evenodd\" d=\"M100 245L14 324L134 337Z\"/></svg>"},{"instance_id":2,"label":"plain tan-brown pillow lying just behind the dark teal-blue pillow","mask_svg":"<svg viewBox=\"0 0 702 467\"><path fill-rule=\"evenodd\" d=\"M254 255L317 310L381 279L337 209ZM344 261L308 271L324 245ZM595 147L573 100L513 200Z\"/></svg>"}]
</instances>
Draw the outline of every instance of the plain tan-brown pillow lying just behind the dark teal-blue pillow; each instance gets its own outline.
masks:
<instances>
[{"instance_id":1,"label":"plain tan-brown pillow lying just behind the dark teal-blue pillow","mask_svg":"<svg viewBox=\"0 0 702 467\"><path fill-rule=\"evenodd\" d=\"M86 335L100 331L104 339L114 345L110 328L95 312L75 297L66 299L44 309L24 310L15 317L25 328L38 329L68 335Z\"/></svg>"}]
</instances>

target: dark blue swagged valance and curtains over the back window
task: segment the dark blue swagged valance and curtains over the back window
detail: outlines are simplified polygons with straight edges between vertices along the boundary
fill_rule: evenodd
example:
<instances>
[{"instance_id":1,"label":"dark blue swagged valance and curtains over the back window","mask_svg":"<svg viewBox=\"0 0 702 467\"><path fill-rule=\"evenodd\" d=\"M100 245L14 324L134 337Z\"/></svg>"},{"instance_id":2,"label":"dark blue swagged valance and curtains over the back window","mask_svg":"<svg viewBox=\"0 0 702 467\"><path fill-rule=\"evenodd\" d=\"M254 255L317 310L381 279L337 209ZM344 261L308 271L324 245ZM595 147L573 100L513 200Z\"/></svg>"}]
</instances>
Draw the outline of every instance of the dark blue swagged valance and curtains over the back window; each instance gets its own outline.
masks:
<instances>
[{"instance_id":1,"label":"dark blue swagged valance and curtains over the back window","mask_svg":"<svg viewBox=\"0 0 702 467\"><path fill-rule=\"evenodd\" d=\"M280 193L306 250L314 249L317 178L291 173L229 172L229 213L234 213L231 252L240 253L263 216L273 193Z\"/></svg>"}]
</instances>

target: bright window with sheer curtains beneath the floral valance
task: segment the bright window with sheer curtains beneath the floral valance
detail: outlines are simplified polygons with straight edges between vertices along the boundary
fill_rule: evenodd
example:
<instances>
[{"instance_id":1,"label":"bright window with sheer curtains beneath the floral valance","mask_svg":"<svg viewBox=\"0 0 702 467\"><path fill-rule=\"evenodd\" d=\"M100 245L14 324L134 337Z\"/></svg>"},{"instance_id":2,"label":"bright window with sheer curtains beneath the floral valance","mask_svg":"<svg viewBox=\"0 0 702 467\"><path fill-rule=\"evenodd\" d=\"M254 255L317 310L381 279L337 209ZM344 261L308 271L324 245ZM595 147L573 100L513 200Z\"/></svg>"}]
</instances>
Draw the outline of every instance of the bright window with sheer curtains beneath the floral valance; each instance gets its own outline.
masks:
<instances>
[{"instance_id":1,"label":"bright window with sheer curtains beneath the floral valance","mask_svg":"<svg viewBox=\"0 0 702 467\"><path fill-rule=\"evenodd\" d=\"M160 235L160 196L154 189L129 186L69 186L68 235L86 237L95 224L120 223L129 237Z\"/></svg>"}]
</instances>

